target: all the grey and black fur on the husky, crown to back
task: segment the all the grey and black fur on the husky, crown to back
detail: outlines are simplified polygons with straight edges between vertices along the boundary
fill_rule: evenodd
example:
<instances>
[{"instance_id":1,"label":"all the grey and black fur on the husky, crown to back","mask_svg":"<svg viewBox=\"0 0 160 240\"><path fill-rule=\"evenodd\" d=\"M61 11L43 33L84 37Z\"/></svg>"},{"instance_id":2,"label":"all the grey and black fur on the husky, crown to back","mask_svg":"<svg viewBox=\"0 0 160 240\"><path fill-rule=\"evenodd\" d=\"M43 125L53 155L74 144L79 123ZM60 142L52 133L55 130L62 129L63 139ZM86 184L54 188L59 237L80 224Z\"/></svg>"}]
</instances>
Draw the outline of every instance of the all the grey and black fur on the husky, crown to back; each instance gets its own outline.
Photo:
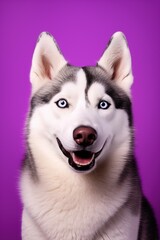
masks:
<instances>
[{"instance_id":1,"label":"all the grey and black fur on the husky, crown to back","mask_svg":"<svg viewBox=\"0 0 160 240\"><path fill-rule=\"evenodd\" d=\"M49 33L45 33L45 34L51 36ZM39 36L37 44L39 43L41 36L42 35ZM125 39L124 36L123 38ZM52 39L55 42L53 37ZM113 38L110 39L107 48L111 45L112 40ZM135 155L134 155L134 132L133 132L133 116L132 116L131 100L127 95L127 93L123 89L118 87L118 85L116 85L114 81L112 81L113 76L112 77L109 76L108 73L98 64L94 67L82 67L82 68L74 67L69 64L66 64L54 79L48 81L48 83L46 83L37 92L34 93L30 101L30 111L29 111L27 124L26 124L27 149L26 149L26 154L23 161L23 165L22 165L22 171L24 172L27 170L33 182L36 184L40 183L40 178L38 176L38 168L36 166L34 157L32 155L31 146L29 145L29 141L28 141L28 136L30 134L30 128L29 128L30 120L33 117L35 109L40 105L48 104L50 100L59 91L61 91L63 84L65 84L66 82L76 81L76 75L80 69L83 69L87 79L87 85L85 89L86 99L88 99L87 97L88 91L93 83L98 82L102 84L105 88L105 92L112 98L115 108L124 110L127 113L128 126L129 126L129 132L131 137L131 140L130 140L131 142L129 143L129 146L130 146L129 151L126 154L126 156L124 156L124 159L123 159L125 163L124 167L120 172L120 174L117 174L118 176L116 176L117 188L121 188L126 185L128 186L129 192L127 193L128 194L127 198L126 200L124 200L124 202L122 202L122 204L120 201L121 205L120 206L118 205L119 207L115 209L116 212L113 213L113 215L109 216L109 220L107 220L107 222L99 230L97 230L92 240L110 239L109 236L107 235L107 229L109 229L109 227L114 224L114 221L117 218L121 219L121 214L123 214L123 211L125 209L127 209L127 211L129 210L129 213L132 216L139 216L139 213L140 213L139 233L138 233L137 240L158 240L156 220L155 220L152 208L150 207L149 203L143 196L141 181L140 181L138 168L137 168ZM129 73L127 73L127 75L124 78L128 77L128 75ZM109 160L110 159L108 159L108 161ZM104 174L103 167L101 165L99 166L97 165L96 171L97 172L99 171L102 174ZM93 170L93 173L91 174L91 178L96 176L97 174L96 171L94 172ZM99 175L97 174L97 176ZM117 201L118 200L119 199L117 199ZM105 216L105 219L106 219L106 216ZM79 239L79 238L78 236L76 236L76 238L74 239Z\"/></svg>"}]
</instances>

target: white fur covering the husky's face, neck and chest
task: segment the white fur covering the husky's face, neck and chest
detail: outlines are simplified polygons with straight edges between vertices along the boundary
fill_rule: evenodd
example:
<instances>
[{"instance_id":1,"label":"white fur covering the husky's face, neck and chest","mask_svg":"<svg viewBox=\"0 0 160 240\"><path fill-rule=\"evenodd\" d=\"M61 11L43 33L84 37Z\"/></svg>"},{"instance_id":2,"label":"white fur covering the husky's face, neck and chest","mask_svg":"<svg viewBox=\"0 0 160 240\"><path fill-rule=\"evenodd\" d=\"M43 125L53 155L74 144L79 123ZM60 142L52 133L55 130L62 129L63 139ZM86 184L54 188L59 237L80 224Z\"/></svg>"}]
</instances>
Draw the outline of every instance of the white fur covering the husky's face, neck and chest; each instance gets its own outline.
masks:
<instances>
[{"instance_id":1,"label":"white fur covering the husky's face, neck and chest","mask_svg":"<svg viewBox=\"0 0 160 240\"><path fill-rule=\"evenodd\" d=\"M34 61L38 60L34 57ZM41 86L37 79L34 84L35 89ZM39 182L34 182L28 171L23 172L23 240L137 239L139 215L132 216L128 209L116 214L130 191L128 183L117 186L129 150L128 116L124 110L115 108L99 83L89 89L88 101L85 88L86 76L81 69L75 82L65 83L48 104L36 107L33 112L28 142ZM60 109L55 104L62 97L69 102L69 108ZM110 108L98 109L99 99L109 101ZM88 174L69 167L56 141L58 137L66 150L74 151L77 146L73 131L80 125L97 131L98 138L88 147L89 151L97 152L106 143L95 169Z\"/></svg>"}]
</instances>

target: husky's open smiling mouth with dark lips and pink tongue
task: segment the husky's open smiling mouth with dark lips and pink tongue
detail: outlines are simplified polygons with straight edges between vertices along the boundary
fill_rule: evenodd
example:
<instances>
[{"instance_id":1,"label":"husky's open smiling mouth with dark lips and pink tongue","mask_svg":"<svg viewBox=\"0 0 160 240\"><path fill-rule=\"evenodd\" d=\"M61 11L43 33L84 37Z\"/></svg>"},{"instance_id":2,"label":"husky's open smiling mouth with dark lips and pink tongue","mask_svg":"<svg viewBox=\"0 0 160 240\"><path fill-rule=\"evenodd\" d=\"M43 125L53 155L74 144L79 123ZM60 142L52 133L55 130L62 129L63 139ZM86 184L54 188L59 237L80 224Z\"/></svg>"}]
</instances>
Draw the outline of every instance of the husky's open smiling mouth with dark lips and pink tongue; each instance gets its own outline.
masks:
<instances>
[{"instance_id":1,"label":"husky's open smiling mouth with dark lips and pink tongue","mask_svg":"<svg viewBox=\"0 0 160 240\"><path fill-rule=\"evenodd\" d=\"M62 151L62 153L68 158L69 165L74 168L76 171L89 171L95 166L95 159L100 155L103 148L97 152L93 153L86 150L81 151L67 151L61 141L57 138L57 143Z\"/></svg>"}]
</instances>

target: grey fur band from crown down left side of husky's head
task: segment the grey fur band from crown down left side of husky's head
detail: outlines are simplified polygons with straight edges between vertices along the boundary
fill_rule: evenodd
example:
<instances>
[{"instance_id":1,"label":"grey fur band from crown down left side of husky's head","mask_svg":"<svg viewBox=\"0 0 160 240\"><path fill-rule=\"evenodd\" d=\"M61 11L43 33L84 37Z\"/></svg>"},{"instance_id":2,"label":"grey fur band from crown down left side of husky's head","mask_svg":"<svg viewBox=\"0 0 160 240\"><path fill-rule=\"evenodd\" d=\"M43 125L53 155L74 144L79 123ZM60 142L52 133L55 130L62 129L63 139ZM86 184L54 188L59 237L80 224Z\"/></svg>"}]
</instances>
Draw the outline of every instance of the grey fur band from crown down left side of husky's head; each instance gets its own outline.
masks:
<instances>
[{"instance_id":1,"label":"grey fur band from crown down left side of husky's head","mask_svg":"<svg viewBox=\"0 0 160 240\"><path fill-rule=\"evenodd\" d=\"M45 86L42 86L31 98L30 100L30 111L26 123L26 145L27 145L27 151L24 157L24 160L22 162L22 170L29 169L31 173L31 177L33 180L38 180L38 173L35 166L34 157L32 155L32 152L30 150L30 145L28 142L28 136L30 134L29 130L29 124L30 119L32 117L32 114L35 110L35 108L39 105L47 104L50 102L52 97L57 94L64 82L67 81L75 81L76 79L76 72L79 70L79 68L76 67L69 67L68 65L64 66L64 68L60 71L56 79L48 81L48 84Z\"/></svg>"}]
</instances>

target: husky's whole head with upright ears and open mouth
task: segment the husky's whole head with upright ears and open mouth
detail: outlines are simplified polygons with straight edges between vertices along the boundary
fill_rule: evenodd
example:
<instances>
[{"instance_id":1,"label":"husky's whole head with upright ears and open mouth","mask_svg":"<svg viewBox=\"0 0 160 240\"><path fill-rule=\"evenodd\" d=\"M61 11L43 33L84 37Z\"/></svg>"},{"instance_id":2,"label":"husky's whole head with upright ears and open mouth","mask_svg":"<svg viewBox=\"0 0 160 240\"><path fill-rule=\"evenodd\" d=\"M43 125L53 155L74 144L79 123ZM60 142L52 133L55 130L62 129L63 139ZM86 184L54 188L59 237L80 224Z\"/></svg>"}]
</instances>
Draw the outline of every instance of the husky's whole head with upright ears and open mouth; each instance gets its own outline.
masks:
<instances>
[{"instance_id":1,"label":"husky's whole head with upright ears and open mouth","mask_svg":"<svg viewBox=\"0 0 160 240\"><path fill-rule=\"evenodd\" d=\"M30 131L76 171L92 171L130 141L131 58L122 33L112 36L95 67L67 64L42 33L31 67ZM43 147L43 146L40 146Z\"/></svg>"}]
</instances>

